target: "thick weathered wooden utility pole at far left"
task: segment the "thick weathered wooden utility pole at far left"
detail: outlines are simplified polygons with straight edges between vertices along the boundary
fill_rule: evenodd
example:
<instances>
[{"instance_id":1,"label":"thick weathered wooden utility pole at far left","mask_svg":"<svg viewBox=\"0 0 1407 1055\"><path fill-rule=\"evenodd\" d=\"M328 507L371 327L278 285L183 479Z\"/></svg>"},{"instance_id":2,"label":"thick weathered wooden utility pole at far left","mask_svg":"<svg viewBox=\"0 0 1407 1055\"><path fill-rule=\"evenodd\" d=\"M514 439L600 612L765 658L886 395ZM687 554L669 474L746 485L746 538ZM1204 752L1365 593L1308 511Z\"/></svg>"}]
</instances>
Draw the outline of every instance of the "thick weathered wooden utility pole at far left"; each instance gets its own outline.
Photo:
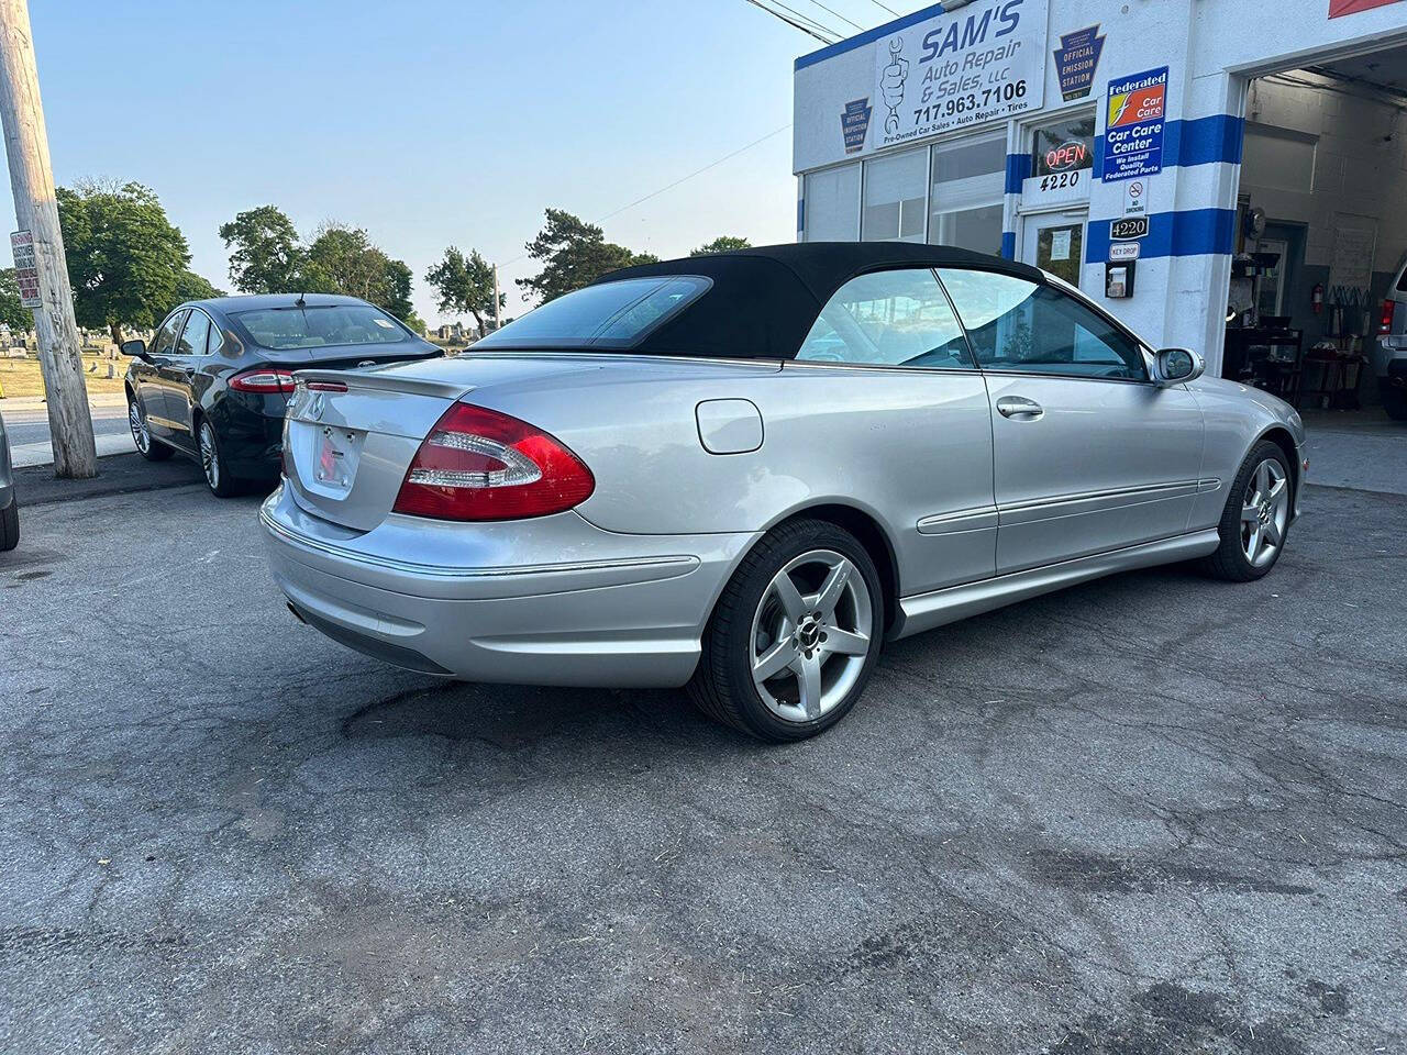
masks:
<instances>
[{"instance_id":1,"label":"thick weathered wooden utility pole at far left","mask_svg":"<svg viewBox=\"0 0 1407 1055\"><path fill-rule=\"evenodd\" d=\"M97 475L93 415L83 383L73 290L59 232L59 203L53 194L49 135L39 103L28 0L0 0L0 118L10 158L15 219L34 243L39 300L34 309L34 332L48 397L53 473L86 480Z\"/></svg>"}]
</instances>

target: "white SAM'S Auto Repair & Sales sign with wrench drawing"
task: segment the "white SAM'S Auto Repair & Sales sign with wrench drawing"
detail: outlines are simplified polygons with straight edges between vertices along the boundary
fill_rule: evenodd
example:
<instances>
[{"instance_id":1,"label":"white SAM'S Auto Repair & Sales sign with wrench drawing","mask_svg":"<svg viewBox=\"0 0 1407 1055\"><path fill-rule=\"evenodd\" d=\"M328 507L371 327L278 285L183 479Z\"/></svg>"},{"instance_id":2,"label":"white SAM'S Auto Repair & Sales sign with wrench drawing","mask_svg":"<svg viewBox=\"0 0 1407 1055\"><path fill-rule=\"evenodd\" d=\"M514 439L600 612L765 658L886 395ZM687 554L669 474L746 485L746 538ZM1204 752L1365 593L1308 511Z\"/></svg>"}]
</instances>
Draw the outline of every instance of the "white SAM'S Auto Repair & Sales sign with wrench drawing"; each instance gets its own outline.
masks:
<instances>
[{"instance_id":1,"label":"white SAM'S Auto Repair & Sales sign with wrench drawing","mask_svg":"<svg viewBox=\"0 0 1407 1055\"><path fill-rule=\"evenodd\" d=\"M1038 110L1047 3L975 0L875 41L870 148ZM853 136L858 122L850 118Z\"/></svg>"}]
</instances>

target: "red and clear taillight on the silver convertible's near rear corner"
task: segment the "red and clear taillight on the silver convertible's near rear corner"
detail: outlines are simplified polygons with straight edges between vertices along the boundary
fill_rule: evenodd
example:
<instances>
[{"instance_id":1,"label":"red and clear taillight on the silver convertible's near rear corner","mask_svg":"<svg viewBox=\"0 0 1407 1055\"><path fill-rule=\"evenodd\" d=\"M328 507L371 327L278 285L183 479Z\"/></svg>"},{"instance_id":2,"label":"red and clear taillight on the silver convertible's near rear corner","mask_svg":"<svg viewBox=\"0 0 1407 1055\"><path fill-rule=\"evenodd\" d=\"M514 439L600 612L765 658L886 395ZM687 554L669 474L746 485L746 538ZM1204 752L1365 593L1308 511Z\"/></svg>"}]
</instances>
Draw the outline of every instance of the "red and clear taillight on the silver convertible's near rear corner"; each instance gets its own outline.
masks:
<instances>
[{"instance_id":1,"label":"red and clear taillight on the silver convertible's near rear corner","mask_svg":"<svg viewBox=\"0 0 1407 1055\"><path fill-rule=\"evenodd\" d=\"M597 481L556 437L507 414L454 404L415 452L395 512L516 520L584 502Z\"/></svg>"}]
</instances>

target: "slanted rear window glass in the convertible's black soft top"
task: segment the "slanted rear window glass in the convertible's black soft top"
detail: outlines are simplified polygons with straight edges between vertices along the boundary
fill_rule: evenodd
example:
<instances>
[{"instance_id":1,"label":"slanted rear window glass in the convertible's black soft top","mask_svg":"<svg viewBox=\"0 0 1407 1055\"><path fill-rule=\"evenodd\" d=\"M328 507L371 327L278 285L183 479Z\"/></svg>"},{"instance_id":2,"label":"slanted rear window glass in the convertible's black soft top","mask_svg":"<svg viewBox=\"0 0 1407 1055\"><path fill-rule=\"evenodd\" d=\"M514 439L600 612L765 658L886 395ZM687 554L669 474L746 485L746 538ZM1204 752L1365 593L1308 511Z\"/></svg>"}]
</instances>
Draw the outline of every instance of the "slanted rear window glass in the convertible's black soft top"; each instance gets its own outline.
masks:
<instances>
[{"instance_id":1,"label":"slanted rear window glass in the convertible's black soft top","mask_svg":"<svg viewBox=\"0 0 1407 1055\"><path fill-rule=\"evenodd\" d=\"M628 349L713 283L695 274L620 281L575 290L509 322L474 350L514 347Z\"/></svg>"}]
</instances>

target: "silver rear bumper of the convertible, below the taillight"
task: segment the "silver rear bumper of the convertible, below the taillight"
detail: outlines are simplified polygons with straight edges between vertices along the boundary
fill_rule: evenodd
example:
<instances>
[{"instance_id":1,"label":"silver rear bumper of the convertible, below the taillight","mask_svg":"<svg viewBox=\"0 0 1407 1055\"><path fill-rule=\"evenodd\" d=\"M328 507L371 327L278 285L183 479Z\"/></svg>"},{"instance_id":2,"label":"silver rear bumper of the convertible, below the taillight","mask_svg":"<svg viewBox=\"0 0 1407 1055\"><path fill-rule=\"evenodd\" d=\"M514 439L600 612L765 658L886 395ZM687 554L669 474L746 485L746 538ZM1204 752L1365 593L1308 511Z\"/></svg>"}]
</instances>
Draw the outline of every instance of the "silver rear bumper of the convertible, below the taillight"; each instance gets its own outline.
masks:
<instances>
[{"instance_id":1,"label":"silver rear bumper of the convertible, below the taillight","mask_svg":"<svg viewBox=\"0 0 1407 1055\"><path fill-rule=\"evenodd\" d=\"M286 487L260 520L274 580L328 637L411 670L536 685L687 682L756 537L616 535L574 512L483 525L393 515L353 533Z\"/></svg>"}]
</instances>

